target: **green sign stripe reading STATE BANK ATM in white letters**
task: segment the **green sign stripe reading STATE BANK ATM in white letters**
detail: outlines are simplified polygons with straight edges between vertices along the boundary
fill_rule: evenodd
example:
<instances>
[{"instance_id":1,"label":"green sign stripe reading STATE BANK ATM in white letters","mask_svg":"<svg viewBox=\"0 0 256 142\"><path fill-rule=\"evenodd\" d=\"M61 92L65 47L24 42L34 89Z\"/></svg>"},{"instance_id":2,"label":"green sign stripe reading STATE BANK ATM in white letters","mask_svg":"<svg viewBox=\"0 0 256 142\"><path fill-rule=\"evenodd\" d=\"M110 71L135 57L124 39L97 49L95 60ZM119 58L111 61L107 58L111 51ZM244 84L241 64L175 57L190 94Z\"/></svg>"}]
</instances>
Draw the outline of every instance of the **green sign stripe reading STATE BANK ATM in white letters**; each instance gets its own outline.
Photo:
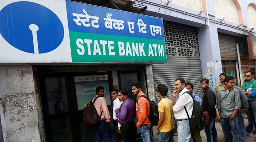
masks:
<instances>
[{"instance_id":1,"label":"green sign stripe reading STATE BANK ATM in white letters","mask_svg":"<svg viewBox=\"0 0 256 142\"><path fill-rule=\"evenodd\" d=\"M72 62L167 62L165 41L69 32Z\"/></svg>"}]
</instances>

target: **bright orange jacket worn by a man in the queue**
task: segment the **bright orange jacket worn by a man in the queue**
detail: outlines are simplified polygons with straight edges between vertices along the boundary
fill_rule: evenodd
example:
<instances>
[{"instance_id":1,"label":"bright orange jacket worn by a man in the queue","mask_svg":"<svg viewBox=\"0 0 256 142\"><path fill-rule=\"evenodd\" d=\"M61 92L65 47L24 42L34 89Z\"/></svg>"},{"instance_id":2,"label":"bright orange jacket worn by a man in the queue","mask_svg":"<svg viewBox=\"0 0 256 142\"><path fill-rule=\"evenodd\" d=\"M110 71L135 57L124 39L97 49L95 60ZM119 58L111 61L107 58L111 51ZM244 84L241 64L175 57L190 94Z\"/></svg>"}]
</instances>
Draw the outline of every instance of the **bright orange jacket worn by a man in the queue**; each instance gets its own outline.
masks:
<instances>
[{"instance_id":1,"label":"bright orange jacket worn by a man in the queue","mask_svg":"<svg viewBox=\"0 0 256 142\"><path fill-rule=\"evenodd\" d=\"M139 98L141 95L145 95L145 94L142 91L140 91L137 95L137 98ZM137 114L138 123L136 126L138 128L140 128L141 125L151 126L151 123L147 117L147 115L149 116L149 113L150 113L150 104L147 101L147 99L143 97L137 99L136 114Z\"/></svg>"}]
</instances>

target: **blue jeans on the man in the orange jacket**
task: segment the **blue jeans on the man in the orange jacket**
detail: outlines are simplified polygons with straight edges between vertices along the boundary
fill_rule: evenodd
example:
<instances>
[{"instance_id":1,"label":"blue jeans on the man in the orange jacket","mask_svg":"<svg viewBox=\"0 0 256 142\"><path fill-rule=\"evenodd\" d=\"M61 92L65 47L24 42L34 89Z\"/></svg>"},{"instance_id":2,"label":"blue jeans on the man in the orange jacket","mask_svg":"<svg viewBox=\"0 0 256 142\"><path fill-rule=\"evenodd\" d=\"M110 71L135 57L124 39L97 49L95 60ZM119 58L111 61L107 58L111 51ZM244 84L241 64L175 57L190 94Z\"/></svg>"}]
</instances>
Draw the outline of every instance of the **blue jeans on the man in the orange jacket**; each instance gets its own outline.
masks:
<instances>
[{"instance_id":1,"label":"blue jeans on the man in the orange jacket","mask_svg":"<svg viewBox=\"0 0 256 142\"><path fill-rule=\"evenodd\" d=\"M151 126L141 125L139 131L143 142L154 142L154 138L151 132Z\"/></svg>"}]
</instances>

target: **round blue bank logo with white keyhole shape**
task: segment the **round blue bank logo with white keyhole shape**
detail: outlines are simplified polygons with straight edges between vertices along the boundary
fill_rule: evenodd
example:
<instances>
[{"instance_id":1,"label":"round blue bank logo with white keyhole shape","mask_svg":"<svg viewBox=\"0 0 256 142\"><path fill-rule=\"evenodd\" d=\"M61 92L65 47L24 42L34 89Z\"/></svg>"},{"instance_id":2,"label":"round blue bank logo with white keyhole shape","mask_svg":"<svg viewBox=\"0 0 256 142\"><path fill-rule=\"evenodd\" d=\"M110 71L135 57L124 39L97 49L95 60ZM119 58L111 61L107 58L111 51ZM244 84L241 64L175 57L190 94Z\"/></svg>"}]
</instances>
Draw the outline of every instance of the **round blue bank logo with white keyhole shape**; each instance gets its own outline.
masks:
<instances>
[{"instance_id":1,"label":"round blue bank logo with white keyhole shape","mask_svg":"<svg viewBox=\"0 0 256 142\"><path fill-rule=\"evenodd\" d=\"M42 54L56 49L64 28L58 16L33 2L14 2L0 11L0 34L13 47Z\"/></svg>"}]
</instances>

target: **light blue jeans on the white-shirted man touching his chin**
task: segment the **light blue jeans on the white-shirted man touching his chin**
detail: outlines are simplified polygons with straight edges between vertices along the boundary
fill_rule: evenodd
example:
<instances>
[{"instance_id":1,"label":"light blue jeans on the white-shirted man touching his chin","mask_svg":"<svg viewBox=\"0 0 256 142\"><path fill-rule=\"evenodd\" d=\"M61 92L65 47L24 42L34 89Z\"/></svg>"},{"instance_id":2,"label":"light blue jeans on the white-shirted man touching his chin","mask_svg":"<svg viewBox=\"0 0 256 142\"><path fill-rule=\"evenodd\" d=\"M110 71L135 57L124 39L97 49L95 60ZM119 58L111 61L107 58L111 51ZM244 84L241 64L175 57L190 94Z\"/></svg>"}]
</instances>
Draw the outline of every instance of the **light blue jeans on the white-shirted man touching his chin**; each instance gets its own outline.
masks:
<instances>
[{"instance_id":1,"label":"light blue jeans on the white-shirted man touching his chin","mask_svg":"<svg viewBox=\"0 0 256 142\"><path fill-rule=\"evenodd\" d=\"M179 142L193 142L188 120L177 121Z\"/></svg>"}]
</instances>

